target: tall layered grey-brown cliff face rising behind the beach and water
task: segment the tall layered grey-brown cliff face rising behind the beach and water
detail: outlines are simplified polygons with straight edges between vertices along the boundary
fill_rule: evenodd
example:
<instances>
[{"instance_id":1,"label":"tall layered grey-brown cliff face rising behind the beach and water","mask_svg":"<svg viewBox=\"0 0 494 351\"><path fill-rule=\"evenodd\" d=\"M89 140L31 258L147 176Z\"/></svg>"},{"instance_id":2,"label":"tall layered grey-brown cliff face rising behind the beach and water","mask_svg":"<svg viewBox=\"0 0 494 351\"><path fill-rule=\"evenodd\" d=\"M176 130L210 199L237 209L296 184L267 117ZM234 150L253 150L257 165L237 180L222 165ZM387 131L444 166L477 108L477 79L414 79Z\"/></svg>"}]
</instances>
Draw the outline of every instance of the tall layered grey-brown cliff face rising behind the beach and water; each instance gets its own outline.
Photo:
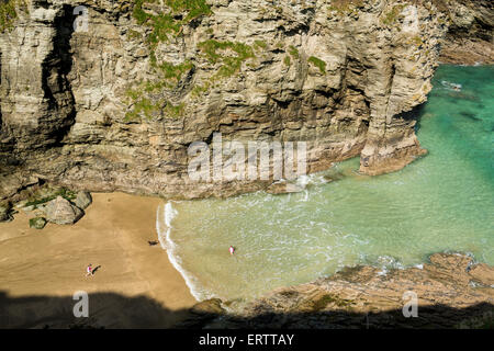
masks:
<instances>
[{"instance_id":1,"label":"tall layered grey-brown cliff face rising behind the beach and water","mask_svg":"<svg viewBox=\"0 0 494 351\"><path fill-rule=\"evenodd\" d=\"M311 172L358 155L397 170L425 152L414 107L452 23L442 1L7 3L0 199L38 180L188 199L269 185L190 181L188 146L216 132L307 141Z\"/></svg>"}]
</instances>

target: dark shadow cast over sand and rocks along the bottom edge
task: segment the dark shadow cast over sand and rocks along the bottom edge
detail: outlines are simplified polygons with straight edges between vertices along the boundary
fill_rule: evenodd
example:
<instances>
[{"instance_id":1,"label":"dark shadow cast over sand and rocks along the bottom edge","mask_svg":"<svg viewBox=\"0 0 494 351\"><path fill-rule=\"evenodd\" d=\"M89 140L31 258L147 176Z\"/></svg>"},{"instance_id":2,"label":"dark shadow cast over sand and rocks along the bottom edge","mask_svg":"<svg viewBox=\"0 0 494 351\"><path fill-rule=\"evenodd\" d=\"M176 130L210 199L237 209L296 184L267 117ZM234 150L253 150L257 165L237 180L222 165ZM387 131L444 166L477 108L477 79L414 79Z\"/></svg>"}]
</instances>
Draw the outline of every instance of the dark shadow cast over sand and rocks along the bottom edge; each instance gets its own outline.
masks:
<instances>
[{"instance_id":1,"label":"dark shadow cast over sand and rocks along the bottom edge","mask_svg":"<svg viewBox=\"0 0 494 351\"><path fill-rule=\"evenodd\" d=\"M11 297L0 292L0 328L494 328L494 305L487 303L467 308L419 306L416 318L405 318L401 309L373 314L259 312L252 318L240 318L221 316L217 302L170 310L146 296L94 293L89 294L89 317L76 318L72 310L78 303L72 296Z\"/></svg>"}]
</instances>

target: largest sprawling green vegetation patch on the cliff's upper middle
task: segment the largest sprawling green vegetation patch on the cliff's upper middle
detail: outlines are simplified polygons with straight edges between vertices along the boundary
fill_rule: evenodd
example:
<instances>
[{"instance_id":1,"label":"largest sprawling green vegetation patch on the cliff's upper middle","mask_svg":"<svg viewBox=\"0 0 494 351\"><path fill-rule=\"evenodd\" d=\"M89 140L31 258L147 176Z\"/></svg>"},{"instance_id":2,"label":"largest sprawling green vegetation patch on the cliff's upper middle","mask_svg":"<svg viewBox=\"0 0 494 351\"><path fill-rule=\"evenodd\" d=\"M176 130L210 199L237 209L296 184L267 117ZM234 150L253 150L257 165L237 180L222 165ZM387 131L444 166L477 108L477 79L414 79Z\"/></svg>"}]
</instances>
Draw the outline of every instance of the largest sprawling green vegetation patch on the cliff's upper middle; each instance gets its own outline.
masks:
<instances>
[{"instance_id":1,"label":"largest sprawling green vegetation patch on the cliff's upper middle","mask_svg":"<svg viewBox=\"0 0 494 351\"><path fill-rule=\"evenodd\" d=\"M205 0L134 0L132 13L138 25L150 29L145 36L145 43L149 50L151 71L149 72L150 78L127 89L126 103L130 104L131 111L126 113L125 120L180 117L186 112L184 104L173 104L167 97L179 97L180 91L183 91L184 84L181 83L181 80L194 70L195 67L192 63L194 59L180 64L169 63L157 54L158 45L173 43L182 33L183 26L201 16L212 14L211 8ZM213 35L213 30L209 29L207 33ZM127 37L141 39L143 34L131 30ZM267 47L268 44L259 39L255 41L252 45L239 42L220 42L213 38L199 43L200 57L198 59L205 59L211 66L216 66L216 72L205 82L195 83L190 90L191 97L200 98L220 79L238 73L246 60L256 58L255 52L259 53Z\"/></svg>"}]
</instances>

